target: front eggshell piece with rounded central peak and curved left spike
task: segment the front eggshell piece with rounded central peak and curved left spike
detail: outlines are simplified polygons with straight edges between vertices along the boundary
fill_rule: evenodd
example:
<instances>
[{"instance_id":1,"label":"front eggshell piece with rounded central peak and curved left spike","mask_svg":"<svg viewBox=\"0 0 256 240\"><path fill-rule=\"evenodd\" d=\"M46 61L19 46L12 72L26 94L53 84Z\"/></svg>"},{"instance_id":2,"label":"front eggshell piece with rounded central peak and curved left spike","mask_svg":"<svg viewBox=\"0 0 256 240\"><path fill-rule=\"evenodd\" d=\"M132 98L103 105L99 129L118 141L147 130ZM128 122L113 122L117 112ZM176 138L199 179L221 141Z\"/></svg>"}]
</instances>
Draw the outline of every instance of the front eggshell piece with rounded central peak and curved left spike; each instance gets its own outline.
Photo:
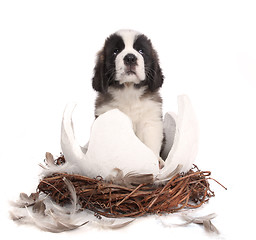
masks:
<instances>
[{"instance_id":1,"label":"front eggshell piece with rounded central peak and curved left spike","mask_svg":"<svg viewBox=\"0 0 256 240\"><path fill-rule=\"evenodd\" d=\"M131 120L118 109L100 115L93 123L87 146L77 143L72 127L75 105L68 105L62 121L61 146L68 163L88 177L108 177L114 169L123 174L159 173L158 158L134 134Z\"/></svg>"}]
</instances>

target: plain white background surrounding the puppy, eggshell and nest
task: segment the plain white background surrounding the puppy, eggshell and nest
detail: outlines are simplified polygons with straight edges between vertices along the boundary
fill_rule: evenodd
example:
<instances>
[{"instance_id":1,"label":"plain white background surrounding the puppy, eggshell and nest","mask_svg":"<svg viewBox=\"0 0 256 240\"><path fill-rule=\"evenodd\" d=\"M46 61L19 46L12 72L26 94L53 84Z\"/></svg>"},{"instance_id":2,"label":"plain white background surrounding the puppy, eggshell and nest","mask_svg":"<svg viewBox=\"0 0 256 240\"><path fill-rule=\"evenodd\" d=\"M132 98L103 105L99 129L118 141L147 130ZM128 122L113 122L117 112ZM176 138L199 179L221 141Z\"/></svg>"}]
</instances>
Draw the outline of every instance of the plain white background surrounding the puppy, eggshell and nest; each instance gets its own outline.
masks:
<instances>
[{"instance_id":1,"label":"plain white background surrounding the puppy, eggshell and nest","mask_svg":"<svg viewBox=\"0 0 256 240\"><path fill-rule=\"evenodd\" d=\"M1 1L1 235L33 239L234 239L255 231L256 7L254 1ZM164 227L142 218L121 230L84 226L51 234L8 219L8 200L35 191L44 153L58 155L62 112L77 102L75 129L88 140L94 118L91 78L105 38L121 28L149 36L165 75L164 112L190 96L200 124L196 164L212 183L208 204L221 231ZM210 213L210 212L209 212ZM171 218L169 216L168 218ZM163 217L163 219L166 219ZM253 233L254 232L254 233ZM8 235L7 235L8 234Z\"/></svg>"}]
</instances>

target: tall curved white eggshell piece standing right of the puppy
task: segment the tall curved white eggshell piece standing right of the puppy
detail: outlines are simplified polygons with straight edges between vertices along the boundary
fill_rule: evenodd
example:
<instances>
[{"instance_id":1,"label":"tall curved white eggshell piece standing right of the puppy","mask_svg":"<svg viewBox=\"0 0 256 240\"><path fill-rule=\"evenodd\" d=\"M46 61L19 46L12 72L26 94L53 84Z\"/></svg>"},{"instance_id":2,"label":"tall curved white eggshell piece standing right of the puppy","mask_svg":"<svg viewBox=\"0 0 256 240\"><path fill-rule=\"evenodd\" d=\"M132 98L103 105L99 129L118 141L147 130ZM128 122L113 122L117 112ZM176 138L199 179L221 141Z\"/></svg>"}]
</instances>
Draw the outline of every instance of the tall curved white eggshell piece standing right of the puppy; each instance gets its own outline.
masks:
<instances>
[{"instance_id":1,"label":"tall curved white eggshell piece standing right of the puppy","mask_svg":"<svg viewBox=\"0 0 256 240\"><path fill-rule=\"evenodd\" d=\"M165 166L160 170L158 180L168 179L172 173L186 173L196 159L199 128L188 96L178 96L177 116L175 113L166 113L164 133L166 144L163 149L163 158L167 157L164 158Z\"/></svg>"}]
</instances>

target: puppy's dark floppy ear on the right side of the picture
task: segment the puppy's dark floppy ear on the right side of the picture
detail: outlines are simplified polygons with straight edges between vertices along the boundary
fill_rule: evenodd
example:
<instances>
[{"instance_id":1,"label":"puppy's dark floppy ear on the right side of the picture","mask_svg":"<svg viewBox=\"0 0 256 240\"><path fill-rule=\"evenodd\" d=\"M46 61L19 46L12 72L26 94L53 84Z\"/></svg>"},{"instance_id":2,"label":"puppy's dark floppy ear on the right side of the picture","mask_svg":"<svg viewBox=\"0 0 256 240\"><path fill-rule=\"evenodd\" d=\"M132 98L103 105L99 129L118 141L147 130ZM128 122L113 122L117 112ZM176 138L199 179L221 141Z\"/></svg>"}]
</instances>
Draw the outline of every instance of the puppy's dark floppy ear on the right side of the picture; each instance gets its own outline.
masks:
<instances>
[{"instance_id":1,"label":"puppy's dark floppy ear on the right side of the picture","mask_svg":"<svg viewBox=\"0 0 256 240\"><path fill-rule=\"evenodd\" d=\"M151 68L149 69L149 73L147 75L148 75L148 88L151 92L154 92L163 85L164 76L162 73L162 69L160 68L160 65L159 65L157 52L155 50L153 50L152 57L153 57L153 62L152 62Z\"/></svg>"}]
</instances>

